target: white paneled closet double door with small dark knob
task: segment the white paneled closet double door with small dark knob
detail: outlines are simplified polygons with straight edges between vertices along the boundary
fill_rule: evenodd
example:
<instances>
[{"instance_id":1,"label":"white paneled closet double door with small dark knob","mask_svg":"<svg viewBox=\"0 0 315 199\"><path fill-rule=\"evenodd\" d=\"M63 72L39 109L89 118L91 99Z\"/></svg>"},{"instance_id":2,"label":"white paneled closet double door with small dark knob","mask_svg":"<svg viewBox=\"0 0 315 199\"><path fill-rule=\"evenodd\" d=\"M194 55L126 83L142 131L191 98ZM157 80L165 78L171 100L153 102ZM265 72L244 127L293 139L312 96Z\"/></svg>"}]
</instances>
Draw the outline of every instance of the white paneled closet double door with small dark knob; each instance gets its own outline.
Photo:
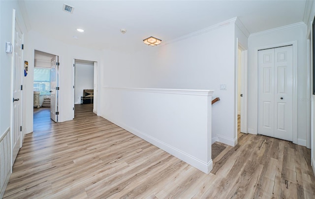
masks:
<instances>
[{"instance_id":1,"label":"white paneled closet double door with small dark knob","mask_svg":"<svg viewBox=\"0 0 315 199\"><path fill-rule=\"evenodd\" d=\"M258 134L292 141L292 46L258 51Z\"/></svg>"}]
</instances>

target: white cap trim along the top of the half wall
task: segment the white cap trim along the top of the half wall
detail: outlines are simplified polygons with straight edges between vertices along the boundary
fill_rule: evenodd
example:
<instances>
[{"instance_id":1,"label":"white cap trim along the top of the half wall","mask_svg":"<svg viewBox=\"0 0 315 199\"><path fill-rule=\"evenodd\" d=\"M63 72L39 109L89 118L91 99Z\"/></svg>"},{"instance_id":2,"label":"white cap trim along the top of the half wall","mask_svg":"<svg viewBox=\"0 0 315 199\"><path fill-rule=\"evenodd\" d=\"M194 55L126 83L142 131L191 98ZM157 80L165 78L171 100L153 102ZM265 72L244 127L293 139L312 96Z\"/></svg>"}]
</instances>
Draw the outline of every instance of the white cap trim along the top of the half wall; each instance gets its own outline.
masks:
<instances>
[{"instance_id":1,"label":"white cap trim along the top of the half wall","mask_svg":"<svg viewBox=\"0 0 315 199\"><path fill-rule=\"evenodd\" d=\"M126 90L126 91L140 91L140 92L154 92L167 94L182 94L182 95L202 95L211 96L214 90L195 90L195 89L166 89L166 88L118 88L118 87L103 87L105 89Z\"/></svg>"}]
</instances>

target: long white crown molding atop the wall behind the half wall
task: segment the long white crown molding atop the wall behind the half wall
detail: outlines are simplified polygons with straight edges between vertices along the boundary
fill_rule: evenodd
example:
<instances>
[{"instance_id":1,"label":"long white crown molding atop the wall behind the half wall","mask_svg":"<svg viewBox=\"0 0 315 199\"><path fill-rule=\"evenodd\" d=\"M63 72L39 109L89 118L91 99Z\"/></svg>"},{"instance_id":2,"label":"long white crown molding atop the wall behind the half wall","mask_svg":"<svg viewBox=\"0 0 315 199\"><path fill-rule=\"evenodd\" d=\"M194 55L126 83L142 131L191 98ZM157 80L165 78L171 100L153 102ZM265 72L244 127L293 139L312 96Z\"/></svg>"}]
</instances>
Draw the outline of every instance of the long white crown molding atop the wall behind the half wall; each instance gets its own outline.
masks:
<instances>
[{"instance_id":1,"label":"long white crown molding atop the wall behind the half wall","mask_svg":"<svg viewBox=\"0 0 315 199\"><path fill-rule=\"evenodd\" d=\"M209 32L209 31L212 31L212 30L215 30L215 29L218 29L218 28L222 28L222 27L228 26L230 24L234 24L236 20L237 20L237 17L234 17L232 19L220 22L220 23L215 24L213 26L210 26L210 27L207 27L207 28L203 28L203 29L191 32L189 34L186 34L186 35L181 36L181 37L177 37L177 38L169 40L169 41L165 41L164 43L162 43L162 44L160 44L158 46L164 46L164 45L167 45L167 44L170 44L170 43L174 43L174 42L177 42L177 41L180 41L180 40L184 40L184 39L187 39L187 38L190 38L190 37L194 37L194 36L197 36L199 34L203 34L203 33L206 33L206 32Z\"/></svg>"}]
</instances>

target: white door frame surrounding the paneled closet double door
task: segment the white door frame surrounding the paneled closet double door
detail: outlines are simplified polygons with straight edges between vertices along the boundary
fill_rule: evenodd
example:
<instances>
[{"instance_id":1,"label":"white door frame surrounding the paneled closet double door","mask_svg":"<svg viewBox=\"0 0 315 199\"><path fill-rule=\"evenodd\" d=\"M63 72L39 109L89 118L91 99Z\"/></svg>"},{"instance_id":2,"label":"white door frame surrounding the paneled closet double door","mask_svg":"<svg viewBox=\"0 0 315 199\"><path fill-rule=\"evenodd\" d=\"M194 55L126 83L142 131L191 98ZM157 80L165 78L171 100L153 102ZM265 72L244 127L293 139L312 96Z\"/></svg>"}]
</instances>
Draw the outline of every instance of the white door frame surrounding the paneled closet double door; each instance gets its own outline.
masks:
<instances>
[{"instance_id":1,"label":"white door frame surrounding the paneled closet double door","mask_svg":"<svg viewBox=\"0 0 315 199\"><path fill-rule=\"evenodd\" d=\"M256 115L256 124L254 126L254 130L252 134L257 135L258 134L258 51L264 50L268 48L278 48L282 46L288 46L292 45L292 74L293 74L293 85L292 85L292 142L298 144L298 138L297 138L297 40L295 41L289 41L284 43L278 43L278 44L270 44L266 46L256 47L254 49L254 76L255 78L255 91L254 91L254 97L255 97L255 114Z\"/></svg>"}]
</instances>

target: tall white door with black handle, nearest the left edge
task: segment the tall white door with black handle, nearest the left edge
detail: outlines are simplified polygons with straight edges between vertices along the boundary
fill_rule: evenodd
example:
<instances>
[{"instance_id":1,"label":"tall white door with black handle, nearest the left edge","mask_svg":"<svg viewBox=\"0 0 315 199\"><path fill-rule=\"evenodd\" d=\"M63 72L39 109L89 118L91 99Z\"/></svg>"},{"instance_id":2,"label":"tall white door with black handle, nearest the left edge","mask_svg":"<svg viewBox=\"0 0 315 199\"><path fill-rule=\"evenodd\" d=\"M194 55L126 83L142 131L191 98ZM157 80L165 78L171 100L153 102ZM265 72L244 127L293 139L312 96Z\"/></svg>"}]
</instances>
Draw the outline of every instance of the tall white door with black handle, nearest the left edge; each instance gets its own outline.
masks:
<instances>
[{"instance_id":1,"label":"tall white door with black handle, nearest the left edge","mask_svg":"<svg viewBox=\"0 0 315 199\"><path fill-rule=\"evenodd\" d=\"M22 134L22 74L24 74L23 63L22 63L22 42L23 33L15 23L15 34L14 34L14 62L13 62L13 118L12 118L12 162L21 148L21 134Z\"/></svg>"}]
</instances>

